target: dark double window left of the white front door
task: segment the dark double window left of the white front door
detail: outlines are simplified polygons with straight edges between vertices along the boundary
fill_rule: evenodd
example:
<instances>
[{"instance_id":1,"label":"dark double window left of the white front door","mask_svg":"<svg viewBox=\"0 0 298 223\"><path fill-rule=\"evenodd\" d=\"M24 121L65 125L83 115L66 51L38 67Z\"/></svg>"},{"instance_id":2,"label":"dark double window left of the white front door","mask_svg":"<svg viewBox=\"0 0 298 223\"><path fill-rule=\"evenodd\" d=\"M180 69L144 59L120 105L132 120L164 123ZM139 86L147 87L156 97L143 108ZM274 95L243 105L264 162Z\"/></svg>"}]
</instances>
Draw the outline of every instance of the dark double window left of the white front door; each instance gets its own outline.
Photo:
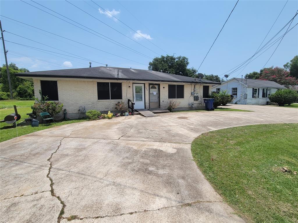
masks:
<instances>
[{"instance_id":1,"label":"dark double window left of the white front door","mask_svg":"<svg viewBox=\"0 0 298 223\"><path fill-rule=\"evenodd\" d=\"M97 82L97 99L122 99L122 83Z\"/></svg>"}]
</instances>

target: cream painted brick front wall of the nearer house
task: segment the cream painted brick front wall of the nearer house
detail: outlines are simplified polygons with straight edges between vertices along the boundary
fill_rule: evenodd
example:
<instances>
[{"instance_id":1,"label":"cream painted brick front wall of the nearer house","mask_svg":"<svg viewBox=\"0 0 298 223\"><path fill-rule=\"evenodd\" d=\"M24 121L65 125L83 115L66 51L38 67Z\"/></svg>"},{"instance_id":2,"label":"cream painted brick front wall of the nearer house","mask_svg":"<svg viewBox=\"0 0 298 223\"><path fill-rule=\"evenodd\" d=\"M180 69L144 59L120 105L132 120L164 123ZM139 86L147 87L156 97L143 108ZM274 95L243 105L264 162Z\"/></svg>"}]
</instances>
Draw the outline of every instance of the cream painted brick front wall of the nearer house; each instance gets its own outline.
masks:
<instances>
[{"instance_id":1,"label":"cream painted brick front wall of the nearer house","mask_svg":"<svg viewBox=\"0 0 298 223\"><path fill-rule=\"evenodd\" d=\"M42 80L54 80L53 78L46 78ZM97 100L97 82L108 82L108 80L74 80L74 79L58 79L58 98L63 103L63 109L66 109L70 116L78 115L80 106L86 106L86 110L96 109L101 112L115 111L115 104L119 100ZM110 81L121 82L121 81ZM35 97L40 98L39 89L41 89L40 79L34 79L34 94ZM172 83L173 84L173 83ZM130 86L130 88L129 88ZM199 92L199 100L194 101L191 92L196 87ZM145 83L145 106L149 109L149 82ZM211 93L211 86L209 87ZM179 108L190 109L189 103L193 102L193 108L200 108L204 106L203 102L203 85L184 84L184 98L183 99L168 99L168 83L160 83L160 107L167 108L170 100L180 102ZM133 100L133 82L122 82L122 101L127 107L128 99ZM69 117L69 116L68 116Z\"/></svg>"}]
</instances>

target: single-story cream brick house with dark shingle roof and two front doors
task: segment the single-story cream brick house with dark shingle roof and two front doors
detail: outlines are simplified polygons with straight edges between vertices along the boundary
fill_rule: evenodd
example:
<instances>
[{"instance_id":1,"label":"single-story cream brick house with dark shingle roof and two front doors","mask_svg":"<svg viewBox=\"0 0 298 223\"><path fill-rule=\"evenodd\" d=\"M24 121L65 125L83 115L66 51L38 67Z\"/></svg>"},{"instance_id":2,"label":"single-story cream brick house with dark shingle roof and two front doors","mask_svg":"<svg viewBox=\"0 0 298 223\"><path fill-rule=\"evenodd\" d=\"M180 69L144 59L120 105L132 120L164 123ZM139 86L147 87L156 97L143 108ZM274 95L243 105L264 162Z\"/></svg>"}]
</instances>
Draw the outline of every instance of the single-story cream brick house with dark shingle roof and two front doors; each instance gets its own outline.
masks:
<instances>
[{"instance_id":1,"label":"single-story cream brick house with dark shingle roof and two front doors","mask_svg":"<svg viewBox=\"0 0 298 223\"><path fill-rule=\"evenodd\" d=\"M68 117L78 117L80 106L86 110L115 111L115 104L128 99L135 109L166 109L170 100L180 102L178 109L204 108L203 98L219 82L153 70L120 67L89 67L17 73L34 83L35 97L39 90L49 100L59 100Z\"/></svg>"}]
</instances>

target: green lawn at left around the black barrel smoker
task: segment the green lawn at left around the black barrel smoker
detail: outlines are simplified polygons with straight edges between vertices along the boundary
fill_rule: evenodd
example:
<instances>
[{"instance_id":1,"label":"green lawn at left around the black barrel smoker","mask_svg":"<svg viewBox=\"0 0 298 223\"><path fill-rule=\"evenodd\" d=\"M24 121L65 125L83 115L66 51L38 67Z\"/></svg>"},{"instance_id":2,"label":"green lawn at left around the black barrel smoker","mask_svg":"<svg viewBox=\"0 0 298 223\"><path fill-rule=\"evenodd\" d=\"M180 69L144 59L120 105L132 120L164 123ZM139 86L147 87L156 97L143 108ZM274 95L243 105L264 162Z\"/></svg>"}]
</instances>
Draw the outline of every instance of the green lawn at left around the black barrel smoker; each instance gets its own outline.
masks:
<instances>
[{"instance_id":1,"label":"green lawn at left around the black barrel smoker","mask_svg":"<svg viewBox=\"0 0 298 223\"><path fill-rule=\"evenodd\" d=\"M27 113L32 112L31 105L33 103L34 101L17 101L17 100L1 101L0 102L1 106L7 106L7 107L10 106L10 108L0 109L0 120L3 120L4 117L8 114L15 113L15 110L13 109L13 105L16 105L18 113L21 115L21 119L17 121L18 136L26 135L32 132L36 132L46 128L51 128L58 125L65 125L69 123L86 121L86 119L79 119L79 120L57 122L56 125L51 123L50 125L43 125L43 126L39 125L39 127L31 127L30 123L24 123L24 118L29 117ZM11 126L12 126L11 124L0 123L0 142L17 137L16 129L12 128Z\"/></svg>"}]
</instances>

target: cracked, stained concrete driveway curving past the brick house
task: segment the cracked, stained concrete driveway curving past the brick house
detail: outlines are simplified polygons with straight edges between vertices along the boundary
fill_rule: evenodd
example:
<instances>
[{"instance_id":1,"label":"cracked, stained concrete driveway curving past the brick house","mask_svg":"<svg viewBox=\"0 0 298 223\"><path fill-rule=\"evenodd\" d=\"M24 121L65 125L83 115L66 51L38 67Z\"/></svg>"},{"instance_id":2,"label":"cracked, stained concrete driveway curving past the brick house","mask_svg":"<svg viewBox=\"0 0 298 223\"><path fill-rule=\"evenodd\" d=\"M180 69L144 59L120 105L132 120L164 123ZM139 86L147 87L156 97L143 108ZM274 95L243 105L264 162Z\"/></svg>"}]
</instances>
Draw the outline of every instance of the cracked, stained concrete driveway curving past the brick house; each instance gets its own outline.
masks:
<instances>
[{"instance_id":1,"label":"cracked, stained concrete driveway curving past the brick house","mask_svg":"<svg viewBox=\"0 0 298 223\"><path fill-rule=\"evenodd\" d=\"M298 109L228 107L255 112L119 117L2 142L1 222L243 222L196 167L191 142L221 128L297 123Z\"/></svg>"}]
</instances>

